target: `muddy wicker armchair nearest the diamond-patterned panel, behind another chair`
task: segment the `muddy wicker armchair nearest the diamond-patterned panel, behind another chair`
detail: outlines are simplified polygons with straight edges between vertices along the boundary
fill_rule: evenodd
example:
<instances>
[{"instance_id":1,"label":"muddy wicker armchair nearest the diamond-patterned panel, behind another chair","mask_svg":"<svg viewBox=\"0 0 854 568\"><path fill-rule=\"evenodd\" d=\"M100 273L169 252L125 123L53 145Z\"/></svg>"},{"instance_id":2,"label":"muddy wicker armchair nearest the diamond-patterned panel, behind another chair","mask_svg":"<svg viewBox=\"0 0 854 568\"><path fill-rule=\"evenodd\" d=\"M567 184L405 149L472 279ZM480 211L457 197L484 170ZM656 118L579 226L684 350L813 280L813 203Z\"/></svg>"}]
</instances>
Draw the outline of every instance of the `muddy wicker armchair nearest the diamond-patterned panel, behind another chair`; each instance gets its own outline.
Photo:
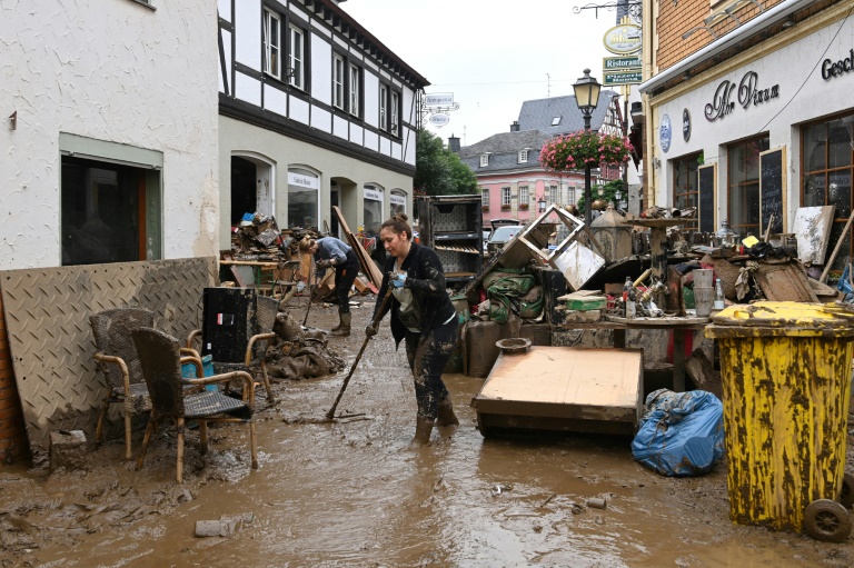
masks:
<instances>
[{"instance_id":1,"label":"muddy wicker armchair nearest the diamond-patterned panel, behind another chair","mask_svg":"<svg viewBox=\"0 0 854 568\"><path fill-rule=\"evenodd\" d=\"M97 348L92 357L98 361L108 385L95 439L103 440L103 426L110 405L121 403L125 407L125 458L130 459L131 417L151 410L151 400L130 332L139 327L153 327L155 315L145 308L113 308L91 316L89 322ZM198 357L191 349L183 352Z\"/></svg>"}]
</instances>

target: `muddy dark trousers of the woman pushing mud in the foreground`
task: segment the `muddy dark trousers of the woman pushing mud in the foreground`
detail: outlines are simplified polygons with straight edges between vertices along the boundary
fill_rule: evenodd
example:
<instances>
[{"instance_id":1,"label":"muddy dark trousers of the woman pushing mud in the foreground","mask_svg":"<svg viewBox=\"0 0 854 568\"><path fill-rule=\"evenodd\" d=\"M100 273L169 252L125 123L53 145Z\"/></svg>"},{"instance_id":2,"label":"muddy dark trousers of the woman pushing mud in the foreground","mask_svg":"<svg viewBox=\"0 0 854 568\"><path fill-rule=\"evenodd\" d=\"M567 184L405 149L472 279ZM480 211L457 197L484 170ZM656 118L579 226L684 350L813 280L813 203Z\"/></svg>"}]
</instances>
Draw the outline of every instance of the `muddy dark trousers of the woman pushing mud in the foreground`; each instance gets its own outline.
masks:
<instances>
[{"instance_id":1,"label":"muddy dark trousers of the woman pushing mud in the foreground","mask_svg":"<svg viewBox=\"0 0 854 568\"><path fill-rule=\"evenodd\" d=\"M454 343L457 341L457 317L423 336L420 332L406 332L406 358L415 378L415 400L418 402L418 416L436 420L439 402L448 396L448 389L441 381Z\"/></svg>"}]
</instances>

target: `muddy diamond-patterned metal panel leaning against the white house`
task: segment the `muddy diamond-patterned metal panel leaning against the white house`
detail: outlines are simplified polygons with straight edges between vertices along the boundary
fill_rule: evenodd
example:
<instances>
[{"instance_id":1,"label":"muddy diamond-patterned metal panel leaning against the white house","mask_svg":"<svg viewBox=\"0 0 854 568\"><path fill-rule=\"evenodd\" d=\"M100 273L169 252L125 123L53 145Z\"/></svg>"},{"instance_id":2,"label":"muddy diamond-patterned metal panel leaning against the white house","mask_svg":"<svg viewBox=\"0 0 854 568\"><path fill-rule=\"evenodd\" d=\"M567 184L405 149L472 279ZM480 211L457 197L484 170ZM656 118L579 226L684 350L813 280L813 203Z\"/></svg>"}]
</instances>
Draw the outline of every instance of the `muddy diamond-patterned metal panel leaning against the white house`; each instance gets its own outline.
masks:
<instances>
[{"instance_id":1,"label":"muddy diamond-patterned metal panel leaning against the white house","mask_svg":"<svg viewBox=\"0 0 854 568\"><path fill-rule=\"evenodd\" d=\"M89 316L120 306L155 312L155 327L185 338L201 322L216 259L193 258L0 271L9 347L36 466L50 431L93 436L107 383L92 361Z\"/></svg>"}]
</instances>

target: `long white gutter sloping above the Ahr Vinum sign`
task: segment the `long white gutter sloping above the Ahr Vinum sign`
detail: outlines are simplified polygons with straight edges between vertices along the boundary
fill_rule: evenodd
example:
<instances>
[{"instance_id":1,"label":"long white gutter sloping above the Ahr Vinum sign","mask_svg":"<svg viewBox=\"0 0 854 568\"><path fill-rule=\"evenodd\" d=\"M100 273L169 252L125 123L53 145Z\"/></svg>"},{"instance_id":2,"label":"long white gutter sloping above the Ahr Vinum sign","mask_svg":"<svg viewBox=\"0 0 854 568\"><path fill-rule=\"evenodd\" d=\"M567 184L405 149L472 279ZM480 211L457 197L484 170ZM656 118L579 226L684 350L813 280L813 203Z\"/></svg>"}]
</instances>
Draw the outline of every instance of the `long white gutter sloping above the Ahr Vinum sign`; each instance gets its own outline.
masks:
<instances>
[{"instance_id":1,"label":"long white gutter sloping above the Ahr Vinum sign","mask_svg":"<svg viewBox=\"0 0 854 568\"><path fill-rule=\"evenodd\" d=\"M815 3L815 0L785 0L776 4L774 8L759 13L751 21L743 23L723 38L716 39L705 48L683 59L675 66L665 69L655 77L640 83L637 89L642 93L652 94L653 90L662 87L667 81L682 76L685 71L694 68L694 66L712 59L718 53L734 47L739 41L743 41L745 37L758 33L765 28L774 26L778 21L787 18L790 14L802 10L812 3Z\"/></svg>"}]
</instances>

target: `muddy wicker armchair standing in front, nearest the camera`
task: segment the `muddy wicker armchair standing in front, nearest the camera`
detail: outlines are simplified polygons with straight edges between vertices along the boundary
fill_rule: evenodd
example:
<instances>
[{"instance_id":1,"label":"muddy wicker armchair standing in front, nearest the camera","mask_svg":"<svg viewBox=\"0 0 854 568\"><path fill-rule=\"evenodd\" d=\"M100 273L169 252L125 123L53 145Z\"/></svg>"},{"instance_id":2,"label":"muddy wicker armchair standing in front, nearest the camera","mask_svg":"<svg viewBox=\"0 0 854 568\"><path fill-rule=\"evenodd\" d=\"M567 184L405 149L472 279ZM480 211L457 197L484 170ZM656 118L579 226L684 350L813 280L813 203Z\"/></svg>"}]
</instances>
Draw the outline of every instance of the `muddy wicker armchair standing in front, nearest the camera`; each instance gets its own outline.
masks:
<instances>
[{"instance_id":1,"label":"muddy wicker armchair standing in front, nearest the camera","mask_svg":"<svg viewBox=\"0 0 854 568\"><path fill-rule=\"evenodd\" d=\"M252 406L255 401L255 381L246 371L232 371L212 377L185 379L181 377L181 345L178 339L152 328L137 328L131 331L133 343L139 353L139 365L151 397L151 416L142 439L142 449L137 458L137 469L142 468L146 449L155 426L161 420L175 421L178 430L178 456L176 479L183 480L183 430L187 420L199 425L201 452L208 450L208 422L235 422L249 427L249 450L252 469L258 469ZM201 363L199 362L199 366ZM198 376L201 376L200 368ZM206 390L206 385L229 381L242 382L242 399L228 397L220 391ZM188 389L188 386L196 386Z\"/></svg>"}]
</instances>

